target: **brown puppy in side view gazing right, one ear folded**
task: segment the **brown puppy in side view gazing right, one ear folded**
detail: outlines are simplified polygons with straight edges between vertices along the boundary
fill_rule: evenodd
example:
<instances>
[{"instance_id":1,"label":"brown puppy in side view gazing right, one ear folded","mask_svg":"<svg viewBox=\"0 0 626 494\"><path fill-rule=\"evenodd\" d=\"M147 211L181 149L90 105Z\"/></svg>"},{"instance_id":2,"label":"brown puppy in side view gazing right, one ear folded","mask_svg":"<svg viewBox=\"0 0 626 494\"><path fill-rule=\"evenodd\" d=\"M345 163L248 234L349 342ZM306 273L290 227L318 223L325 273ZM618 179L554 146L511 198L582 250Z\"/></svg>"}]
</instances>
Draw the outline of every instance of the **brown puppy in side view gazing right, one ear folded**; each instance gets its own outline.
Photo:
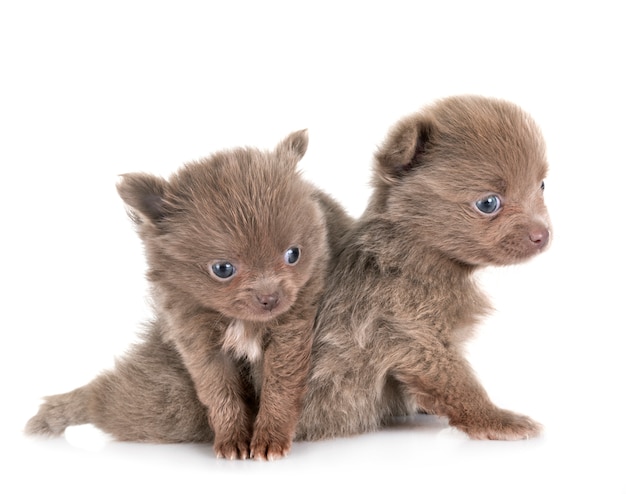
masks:
<instances>
[{"instance_id":1,"label":"brown puppy in side view gazing right, one ear folded","mask_svg":"<svg viewBox=\"0 0 626 494\"><path fill-rule=\"evenodd\" d=\"M297 438L418 410L476 439L537 435L491 402L463 356L490 309L474 273L550 241L536 124L504 101L447 98L397 123L375 158L373 195L320 306Z\"/></svg>"}]
</instances>

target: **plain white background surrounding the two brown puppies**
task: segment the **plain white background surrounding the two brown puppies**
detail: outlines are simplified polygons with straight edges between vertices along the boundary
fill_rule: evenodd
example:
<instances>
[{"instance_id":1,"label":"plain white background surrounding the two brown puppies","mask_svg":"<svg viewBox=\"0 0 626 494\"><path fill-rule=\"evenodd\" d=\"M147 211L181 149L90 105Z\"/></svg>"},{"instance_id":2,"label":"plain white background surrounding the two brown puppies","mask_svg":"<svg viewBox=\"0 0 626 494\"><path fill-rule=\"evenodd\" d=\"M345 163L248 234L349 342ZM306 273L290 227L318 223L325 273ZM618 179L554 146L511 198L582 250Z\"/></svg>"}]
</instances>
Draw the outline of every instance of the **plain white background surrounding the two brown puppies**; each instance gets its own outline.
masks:
<instances>
[{"instance_id":1,"label":"plain white background surrounding the two brown puppies","mask_svg":"<svg viewBox=\"0 0 626 494\"><path fill-rule=\"evenodd\" d=\"M620 4L3 0L0 490L626 492ZM110 367L150 316L118 174L308 128L301 169L358 215L387 129L460 93L518 103L548 144L551 250L484 273L497 311L469 348L541 438L471 441L427 417L268 464L22 435L41 396Z\"/></svg>"}]
</instances>

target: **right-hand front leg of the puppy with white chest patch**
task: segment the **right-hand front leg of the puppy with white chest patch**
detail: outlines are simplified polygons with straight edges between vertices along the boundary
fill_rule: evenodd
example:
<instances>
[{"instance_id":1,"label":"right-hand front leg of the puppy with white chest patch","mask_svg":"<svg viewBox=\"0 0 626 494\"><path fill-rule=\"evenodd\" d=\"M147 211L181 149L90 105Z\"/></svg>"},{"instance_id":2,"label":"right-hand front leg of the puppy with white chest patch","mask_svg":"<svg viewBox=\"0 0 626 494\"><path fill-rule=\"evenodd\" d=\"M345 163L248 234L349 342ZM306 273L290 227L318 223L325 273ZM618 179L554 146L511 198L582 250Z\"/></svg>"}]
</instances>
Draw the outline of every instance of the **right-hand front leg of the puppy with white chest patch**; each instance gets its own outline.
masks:
<instances>
[{"instance_id":1,"label":"right-hand front leg of the puppy with white chest patch","mask_svg":"<svg viewBox=\"0 0 626 494\"><path fill-rule=\"evenodd\" d=\"M315 314L311 312L310 318L272 328L250 448L255 459L282 458L291 449L309 371Z\"/></svg>"}]
</instances>

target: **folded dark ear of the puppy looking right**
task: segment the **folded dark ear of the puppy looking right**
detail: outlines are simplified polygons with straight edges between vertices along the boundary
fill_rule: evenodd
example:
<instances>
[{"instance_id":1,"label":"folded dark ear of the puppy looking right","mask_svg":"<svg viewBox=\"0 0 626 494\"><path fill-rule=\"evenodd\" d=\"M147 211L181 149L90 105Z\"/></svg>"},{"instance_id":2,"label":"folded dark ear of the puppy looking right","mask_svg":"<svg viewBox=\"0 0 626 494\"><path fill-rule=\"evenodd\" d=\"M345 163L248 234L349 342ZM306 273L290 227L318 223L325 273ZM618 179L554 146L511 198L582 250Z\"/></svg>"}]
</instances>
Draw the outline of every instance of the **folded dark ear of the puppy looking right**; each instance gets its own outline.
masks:
<instances>
[{"instance_id":1,"label":"folded dark ear of the puppy looking right","mask_svg":"<svg viewBox=\"0 0 626 494\"><path fill-rule=\"evenodd\" d=\"M434 122L421 114L398 122L376 153L376 171L385 182L396 182L423 162Z\"/></svg>"}]
</instances>

